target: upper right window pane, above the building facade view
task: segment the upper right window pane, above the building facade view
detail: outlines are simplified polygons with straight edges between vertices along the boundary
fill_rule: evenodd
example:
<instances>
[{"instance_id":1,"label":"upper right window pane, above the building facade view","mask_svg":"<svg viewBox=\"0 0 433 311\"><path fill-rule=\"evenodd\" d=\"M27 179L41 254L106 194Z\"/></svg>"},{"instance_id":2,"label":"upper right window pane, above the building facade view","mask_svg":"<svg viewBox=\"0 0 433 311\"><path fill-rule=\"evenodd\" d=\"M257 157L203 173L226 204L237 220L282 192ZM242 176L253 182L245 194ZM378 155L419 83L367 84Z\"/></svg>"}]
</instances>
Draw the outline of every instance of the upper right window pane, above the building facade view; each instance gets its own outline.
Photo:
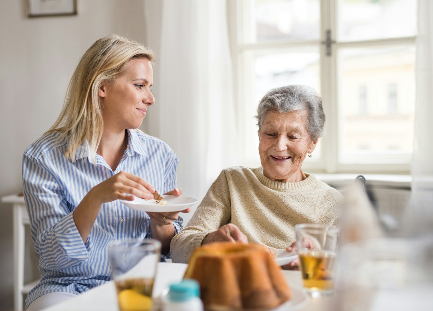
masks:
<instances>
[{"instance_id":1,"label":"upper right window pane, above the building facade view","mask_svg":"<svg viewBox=\"0 0 433 311\"><path fill-rule=\"evenodd\" d=\"M340 41L417 34L417 0L338 0Z\"/></svg>"}]
</instances>

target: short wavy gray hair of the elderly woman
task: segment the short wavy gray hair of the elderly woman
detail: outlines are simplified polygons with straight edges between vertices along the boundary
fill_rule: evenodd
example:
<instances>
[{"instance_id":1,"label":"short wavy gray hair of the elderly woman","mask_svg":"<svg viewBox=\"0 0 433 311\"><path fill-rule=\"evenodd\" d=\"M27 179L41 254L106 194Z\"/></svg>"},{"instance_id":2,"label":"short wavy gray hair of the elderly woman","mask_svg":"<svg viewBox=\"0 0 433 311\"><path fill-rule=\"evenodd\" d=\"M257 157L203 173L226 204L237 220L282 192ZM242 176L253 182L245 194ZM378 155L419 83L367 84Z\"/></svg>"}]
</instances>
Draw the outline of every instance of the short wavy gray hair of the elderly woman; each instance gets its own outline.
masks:
<instances>
[{"instance_id":1,"label":"short wavy gray hair of the elderly woman","mask_svg":"<svg viewBox=\"0 0 433 311\"><path fill-rule=\"evenodd\" d=\"M257 125L262 128L263 120L268 112L291 112L306 110L306 128L313 141L325 134L325 113L322 98L312 88L306 85L288 85L275 87L260 99L257 107Z\"/></svg>"}]
</instances>

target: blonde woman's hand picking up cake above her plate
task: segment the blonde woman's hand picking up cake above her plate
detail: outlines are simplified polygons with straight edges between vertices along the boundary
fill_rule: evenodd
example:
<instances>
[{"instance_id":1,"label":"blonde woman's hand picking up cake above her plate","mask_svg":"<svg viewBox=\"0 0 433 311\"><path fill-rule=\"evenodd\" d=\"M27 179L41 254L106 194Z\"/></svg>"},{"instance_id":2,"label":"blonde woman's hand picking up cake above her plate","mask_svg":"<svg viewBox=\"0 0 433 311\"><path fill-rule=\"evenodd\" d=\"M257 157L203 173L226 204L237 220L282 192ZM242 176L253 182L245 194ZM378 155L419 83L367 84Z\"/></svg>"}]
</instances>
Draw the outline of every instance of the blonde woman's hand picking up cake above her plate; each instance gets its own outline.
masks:
<instances>
[{"instance_id":1,"label":"blonde woman's hand picking up cake above her plate","mask_svg":"<svg viewBox=\"0 0 433 311\"><path fill-rule=\"evenodd\" d=\"M117 199L132 201L134 196L153 199L153 192L155 188L144 179L121 171L94 186L86 196L90 196L92 200L96 200L96 203L101 205Z\"/></svg>"}]
</instances>

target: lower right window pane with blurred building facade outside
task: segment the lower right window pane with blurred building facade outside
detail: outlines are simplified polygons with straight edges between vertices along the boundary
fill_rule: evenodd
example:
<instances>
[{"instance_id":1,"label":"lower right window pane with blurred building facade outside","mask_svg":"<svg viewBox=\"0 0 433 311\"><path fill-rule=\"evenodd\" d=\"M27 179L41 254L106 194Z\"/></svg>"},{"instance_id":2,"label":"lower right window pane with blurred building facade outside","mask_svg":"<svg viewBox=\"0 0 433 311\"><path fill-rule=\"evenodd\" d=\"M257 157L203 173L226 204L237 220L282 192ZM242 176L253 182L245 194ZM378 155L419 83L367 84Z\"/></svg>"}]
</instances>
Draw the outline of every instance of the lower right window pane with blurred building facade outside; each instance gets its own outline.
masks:
<instances>
[{"instance_id":1,"label":"lower right window pane with blurred building facade outside","mask_svg":"<svg viewBox=\"0 0 433 311\"><path fill-rule=\"evenodd\" d=\"M415 108L415 47L340 48L339 160L408 162Z\"/></svg>"}]
</instances>

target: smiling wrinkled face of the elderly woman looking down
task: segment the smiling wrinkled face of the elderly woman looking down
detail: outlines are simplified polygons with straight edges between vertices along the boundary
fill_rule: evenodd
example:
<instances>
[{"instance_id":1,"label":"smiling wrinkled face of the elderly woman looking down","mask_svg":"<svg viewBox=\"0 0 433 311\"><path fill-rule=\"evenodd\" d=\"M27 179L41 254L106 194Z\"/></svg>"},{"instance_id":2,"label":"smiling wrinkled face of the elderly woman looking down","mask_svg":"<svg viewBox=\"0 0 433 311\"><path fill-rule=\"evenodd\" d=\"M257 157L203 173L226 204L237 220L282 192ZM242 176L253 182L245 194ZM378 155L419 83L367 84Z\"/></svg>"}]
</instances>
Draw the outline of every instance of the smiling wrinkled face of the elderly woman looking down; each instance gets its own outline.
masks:
<instances>
[{"instance_id":1,"label":"smiling wrinkled face of the elderly woman looking down","mask_svg":"<svg viewBox=\"0 0 433 311\"><path fill-rule=\"evenodd\" d=\"M268 112L259 131L259 154L263 173L271 180L299 182L303 180L302 162L313 152L306 128L307 111Z\"/></svg>"}]
</instances>

